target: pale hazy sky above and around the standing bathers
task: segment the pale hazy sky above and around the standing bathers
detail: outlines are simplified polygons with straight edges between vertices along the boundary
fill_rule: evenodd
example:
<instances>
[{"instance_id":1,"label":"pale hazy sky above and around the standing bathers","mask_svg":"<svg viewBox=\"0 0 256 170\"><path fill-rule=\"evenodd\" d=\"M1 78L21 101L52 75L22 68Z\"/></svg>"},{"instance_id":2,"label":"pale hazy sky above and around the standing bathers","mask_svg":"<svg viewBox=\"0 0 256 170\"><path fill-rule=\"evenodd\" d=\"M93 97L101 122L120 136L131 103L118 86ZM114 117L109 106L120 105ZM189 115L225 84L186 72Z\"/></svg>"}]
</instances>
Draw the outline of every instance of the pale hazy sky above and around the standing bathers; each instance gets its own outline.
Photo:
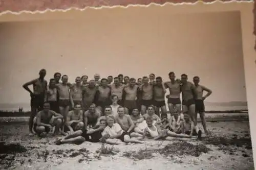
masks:
<instances>
[{"instance_id":1,"label":"pale hazy sky above and around the standing bathers","mask_svg":"<svg viewBox=\"0 0 256 170\"><path fill-rule=\"evenodd\" d=\"M22 85L41 68L47 80L59 71L70 82L95 73L135 78L155 73L167 81L175 71L190 81L200 76L214 91L208 102L246 101L238 12L89 13L82 20L0 24L0 103L29 103Z\"/></svg>"}]
</instances>

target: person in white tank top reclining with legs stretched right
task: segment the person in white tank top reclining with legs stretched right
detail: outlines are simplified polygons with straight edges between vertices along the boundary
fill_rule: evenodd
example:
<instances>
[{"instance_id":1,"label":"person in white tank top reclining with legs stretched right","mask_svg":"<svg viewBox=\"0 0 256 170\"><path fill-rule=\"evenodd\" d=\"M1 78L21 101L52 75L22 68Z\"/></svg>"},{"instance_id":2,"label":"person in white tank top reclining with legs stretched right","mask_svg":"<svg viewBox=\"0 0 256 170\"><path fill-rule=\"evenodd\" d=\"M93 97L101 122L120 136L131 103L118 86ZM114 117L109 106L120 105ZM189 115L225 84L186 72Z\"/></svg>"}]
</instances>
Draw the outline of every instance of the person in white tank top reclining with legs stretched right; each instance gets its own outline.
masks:
<instances>
[{"instance_id":1,"label":"person in white tank top reclining with legs stretched right","mask_svg":"<svg viewBox=\"0 0 256 170\"><path fill-rule=\"evenodd\" d=\"M143 138L147 137L154 140L188 140L188 138L191 138L186 134L176 134L167 129L162 130L160 126L156 127L153 125L153 118L150 116L146 118L146 124L147 127L144 129Z\"/></svg>"}]
</instances>

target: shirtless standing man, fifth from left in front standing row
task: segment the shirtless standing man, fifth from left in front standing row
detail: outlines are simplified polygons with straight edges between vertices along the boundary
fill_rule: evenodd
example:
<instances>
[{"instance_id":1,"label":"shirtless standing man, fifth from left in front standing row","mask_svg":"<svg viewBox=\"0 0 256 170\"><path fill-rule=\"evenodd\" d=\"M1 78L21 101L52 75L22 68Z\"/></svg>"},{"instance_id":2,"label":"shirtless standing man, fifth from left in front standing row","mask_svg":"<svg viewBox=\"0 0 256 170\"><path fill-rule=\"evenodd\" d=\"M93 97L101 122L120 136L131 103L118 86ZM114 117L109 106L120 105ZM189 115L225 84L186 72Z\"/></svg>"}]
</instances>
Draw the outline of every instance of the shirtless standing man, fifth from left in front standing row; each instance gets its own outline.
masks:
<instances>
[{"instance_id":1,"label":"shirtless standing man, fifth from left in front standing row","mask_svg":"<svg viewBox=\"0 0 256 170\"><path fill-rule=\"evenodd\" d=\"M82 90L82 100L83 100L83 111L87 111L89 107L95 102L95 94L97 91L94 80L89 81L89 85Z\"/></svg>"}]
</instances>

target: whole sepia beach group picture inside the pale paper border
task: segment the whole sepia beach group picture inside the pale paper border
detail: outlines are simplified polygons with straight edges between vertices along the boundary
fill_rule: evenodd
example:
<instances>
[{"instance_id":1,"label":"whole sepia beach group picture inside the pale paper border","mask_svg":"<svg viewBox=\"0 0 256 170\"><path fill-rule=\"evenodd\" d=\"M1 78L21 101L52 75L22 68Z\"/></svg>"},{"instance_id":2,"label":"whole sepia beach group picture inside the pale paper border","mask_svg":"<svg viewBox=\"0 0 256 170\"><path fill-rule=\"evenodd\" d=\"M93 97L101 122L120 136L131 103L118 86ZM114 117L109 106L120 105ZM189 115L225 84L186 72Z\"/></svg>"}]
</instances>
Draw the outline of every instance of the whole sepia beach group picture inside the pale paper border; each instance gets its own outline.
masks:
<instances>
[{"instance_id":1,"label":"whole sepia beach group picture inside the pale paper border","mask_svg":"<svg viewBox=\"0 0 256 170\"><path fill-rule=\"evenodd\" d=\"M1 169L254 169L239 11L82 13L0 23Z\"/></svg>"}]
</instances>

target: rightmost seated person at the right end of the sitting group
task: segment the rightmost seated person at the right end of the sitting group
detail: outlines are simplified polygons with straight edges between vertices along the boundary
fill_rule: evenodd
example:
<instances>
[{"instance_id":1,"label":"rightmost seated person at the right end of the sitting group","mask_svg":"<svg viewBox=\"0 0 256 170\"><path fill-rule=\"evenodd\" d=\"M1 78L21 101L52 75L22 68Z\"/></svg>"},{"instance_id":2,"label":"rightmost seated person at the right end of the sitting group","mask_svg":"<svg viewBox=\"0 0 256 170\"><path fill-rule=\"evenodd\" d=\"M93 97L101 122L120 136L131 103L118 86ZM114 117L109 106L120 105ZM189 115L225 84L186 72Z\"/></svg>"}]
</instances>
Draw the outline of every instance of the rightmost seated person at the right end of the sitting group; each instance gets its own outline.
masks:
<instances>
[{"instance_id":1,"label":"rightmost seated person at the right end of the sitting group","mask_svg":"<svg viewBox=\"0 0 256 170\"><path fill-rule=\"evenodd\" d=\"M184 121L181 122L181 133L192 136L198 136L201 139L202 131L194 125L188 114L184 114Z\"/></svg>"}]
</instances>

